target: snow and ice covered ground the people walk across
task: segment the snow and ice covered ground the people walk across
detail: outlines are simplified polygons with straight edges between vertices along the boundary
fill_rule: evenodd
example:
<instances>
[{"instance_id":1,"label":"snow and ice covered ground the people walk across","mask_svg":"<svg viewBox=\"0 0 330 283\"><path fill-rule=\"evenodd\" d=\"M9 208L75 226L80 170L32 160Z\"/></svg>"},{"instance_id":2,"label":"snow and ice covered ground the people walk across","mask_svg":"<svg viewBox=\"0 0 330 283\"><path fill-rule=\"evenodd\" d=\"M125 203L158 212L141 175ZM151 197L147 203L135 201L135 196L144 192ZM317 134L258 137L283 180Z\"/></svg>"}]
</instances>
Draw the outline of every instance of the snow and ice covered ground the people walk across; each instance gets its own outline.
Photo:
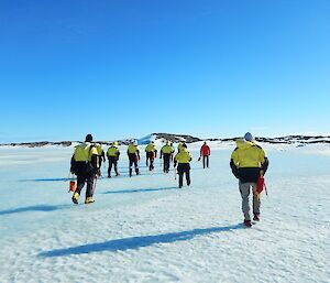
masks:
<instances>
[{"instance_id":1,"label":"snow and ice covered ground the people walk across","mask_svg":"<svg viewBox=\"0 0 330 283\"><path fill-rule=\"evenodd\" d=\"M121 176L98 179L96 203L78 206L73 148L0 148L0 282L330 282L330 145L264 145L270 196L252 229L234 144L211 143L209 170L199 146L189 189L160 160L150 173L144 154L142 175L128 177L122 146Z\"/></svg>"}]
</instances>

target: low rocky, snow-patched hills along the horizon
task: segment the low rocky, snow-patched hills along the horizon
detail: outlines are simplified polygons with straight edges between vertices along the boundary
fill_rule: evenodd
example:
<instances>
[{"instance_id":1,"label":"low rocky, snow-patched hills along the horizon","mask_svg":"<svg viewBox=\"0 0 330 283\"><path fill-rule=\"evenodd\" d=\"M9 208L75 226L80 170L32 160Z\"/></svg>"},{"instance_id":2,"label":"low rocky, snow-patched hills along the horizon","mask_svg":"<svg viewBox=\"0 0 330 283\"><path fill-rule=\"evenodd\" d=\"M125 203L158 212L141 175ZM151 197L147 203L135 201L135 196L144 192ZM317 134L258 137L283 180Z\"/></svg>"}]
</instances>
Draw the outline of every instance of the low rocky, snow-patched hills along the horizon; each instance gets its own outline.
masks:
<instances>
[{"instance_id":1,"label":"low rocky, snow-patched hills along the horizon","mask_svg":"<svg viewBox=\"0 0 330 283\"><path fill-rule=\"evenodd\" d=\"M152 133L142 139L124 139L118 141L119 144L129 144L131 140L136 140L139 144L147 144L151 141L169 141L173 143L177 142L199 142L199 141L235 141L239 137L235 138L227 138L227 139L200 139L197 137L188 135L188 134L173 134L173 133ZM272 143L272 144L314 144L314 143L330 143L330 135L286 135L279 138L261 138L256 137L255 140L257 142ZM109 145L112 141L98 141L99 143ZM80 141L61 141L61 142L50 142L50 141L41 141L41 142L23 142L23 143L7 143L0 145L9 145L9 146L26 146L26 148L41 148L46 145L62 145L62 146L70 146L73 144L78 144Z\"/></svg>"}]
</instances>

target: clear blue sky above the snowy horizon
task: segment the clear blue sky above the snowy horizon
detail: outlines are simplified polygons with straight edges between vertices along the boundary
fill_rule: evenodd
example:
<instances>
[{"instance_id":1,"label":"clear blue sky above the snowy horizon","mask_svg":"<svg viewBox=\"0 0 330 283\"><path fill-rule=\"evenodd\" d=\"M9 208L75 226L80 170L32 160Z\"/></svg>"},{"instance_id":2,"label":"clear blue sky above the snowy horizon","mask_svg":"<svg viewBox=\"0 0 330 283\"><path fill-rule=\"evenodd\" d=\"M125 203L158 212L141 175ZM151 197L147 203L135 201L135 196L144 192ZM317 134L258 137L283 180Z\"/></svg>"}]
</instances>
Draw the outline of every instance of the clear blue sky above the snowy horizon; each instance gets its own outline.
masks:
<instances>
[{"instance_id":1,"label":"clear blue sky above the snowy horizon","mask_svg":"<svg viewBox=\"0 0 330 283\"><path fill-rule=\"evenodd\" d=\"M0 143L329 134L328 0L1 0Z\"/></svg>"}]
</instances>

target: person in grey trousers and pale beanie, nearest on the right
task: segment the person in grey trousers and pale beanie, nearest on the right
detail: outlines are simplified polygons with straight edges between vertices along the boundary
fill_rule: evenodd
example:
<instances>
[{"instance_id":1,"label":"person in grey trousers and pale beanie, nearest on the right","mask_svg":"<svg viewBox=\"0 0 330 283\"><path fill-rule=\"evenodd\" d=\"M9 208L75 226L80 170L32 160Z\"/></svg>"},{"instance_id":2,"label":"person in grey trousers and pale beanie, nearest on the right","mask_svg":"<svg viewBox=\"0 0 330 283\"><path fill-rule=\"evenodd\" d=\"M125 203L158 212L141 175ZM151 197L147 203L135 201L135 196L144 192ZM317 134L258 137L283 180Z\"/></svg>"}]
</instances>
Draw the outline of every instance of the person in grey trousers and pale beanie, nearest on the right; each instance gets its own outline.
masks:
<instances>
[{"instance_id":1,"label":"person in grey trousers and pale beanie, nearest on the right","mask_svg":"<svg viewBox=\"0 0 330 283\"><path fill-rule=\"evenodd\" d=\"M256 193L256 183L268 168L266 152L254 142L254 138L246 132L244 139L237 140L237 148L231 154L230 167L233 175L239 179L239 188L242 197L242 211L244 214L244 225L251 227L250 200L253 193L253 220L260 220L261 200Z\"/></svg>"}]
</instances>

